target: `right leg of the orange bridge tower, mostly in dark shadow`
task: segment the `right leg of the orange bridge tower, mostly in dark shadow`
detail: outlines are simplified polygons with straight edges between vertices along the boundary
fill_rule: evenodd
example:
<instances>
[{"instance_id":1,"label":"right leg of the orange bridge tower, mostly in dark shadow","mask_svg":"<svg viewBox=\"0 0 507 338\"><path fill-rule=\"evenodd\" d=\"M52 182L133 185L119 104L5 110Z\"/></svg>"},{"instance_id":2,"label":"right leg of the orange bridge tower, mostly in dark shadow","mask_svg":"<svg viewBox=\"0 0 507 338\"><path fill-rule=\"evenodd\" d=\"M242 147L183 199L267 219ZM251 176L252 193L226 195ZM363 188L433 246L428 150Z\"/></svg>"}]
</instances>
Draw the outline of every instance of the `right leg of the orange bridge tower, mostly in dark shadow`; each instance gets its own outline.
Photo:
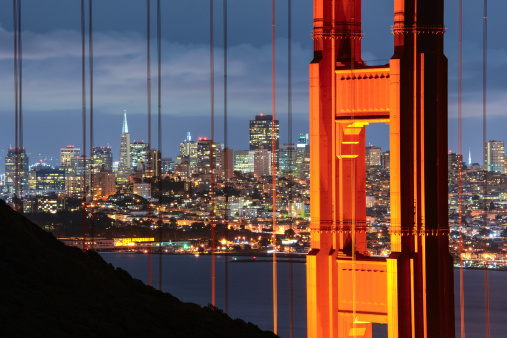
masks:
<instances>
[{"instance_id":1,"label":"right leg of the orange bridge tower, mostly in dark shadow","mask_svg":"<svg viewBox=\"0 0 507 338\"><path fill-rule=\"evenodd\" d=\"M395 0L394 13L389 336L454 337L444 1Z\"/></svg>"}]
</instances>

